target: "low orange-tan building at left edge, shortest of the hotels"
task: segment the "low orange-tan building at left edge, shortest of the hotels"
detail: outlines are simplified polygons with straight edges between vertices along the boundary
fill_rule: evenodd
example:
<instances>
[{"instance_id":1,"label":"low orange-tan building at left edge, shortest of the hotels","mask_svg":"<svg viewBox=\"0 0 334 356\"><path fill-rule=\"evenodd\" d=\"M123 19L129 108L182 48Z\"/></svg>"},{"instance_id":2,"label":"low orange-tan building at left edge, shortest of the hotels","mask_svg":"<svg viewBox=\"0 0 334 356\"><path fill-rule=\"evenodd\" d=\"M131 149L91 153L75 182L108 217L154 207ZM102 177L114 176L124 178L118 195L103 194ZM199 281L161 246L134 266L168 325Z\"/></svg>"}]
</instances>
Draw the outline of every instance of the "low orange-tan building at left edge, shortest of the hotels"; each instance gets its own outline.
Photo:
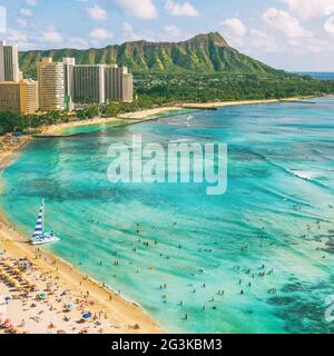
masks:
<instances>
[{"instance_id":1,"label":"low orange-tan building at left edge, shortest of the hotels","mask_svg":"<svg viewBox=\"0 0 334 356\"><path fill-rule=\"evenodd\" d=\"M33 113L39 108L38 82L35 80L0 82L0 111Z\"/></svg>"}]
</instances>

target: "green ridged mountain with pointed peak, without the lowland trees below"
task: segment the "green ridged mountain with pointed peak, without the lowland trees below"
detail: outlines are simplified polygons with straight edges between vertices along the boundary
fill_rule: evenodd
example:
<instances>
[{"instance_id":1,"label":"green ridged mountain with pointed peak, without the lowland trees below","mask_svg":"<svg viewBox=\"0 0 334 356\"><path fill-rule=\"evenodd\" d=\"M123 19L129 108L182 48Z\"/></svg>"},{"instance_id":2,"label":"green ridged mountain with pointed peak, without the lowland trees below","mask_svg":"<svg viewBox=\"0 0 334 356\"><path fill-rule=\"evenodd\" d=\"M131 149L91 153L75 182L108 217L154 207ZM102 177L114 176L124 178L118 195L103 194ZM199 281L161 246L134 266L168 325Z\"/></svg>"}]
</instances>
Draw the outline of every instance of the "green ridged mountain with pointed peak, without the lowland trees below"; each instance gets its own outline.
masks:
<instances>
[{"instance_id":1,"label":"green ridged mountain with pointed peak, without the lowland trees below","mask_svg":"<svg viewBox=\"0 0 334 356\"><path fill-rule=\"evenodd\" d=\"M78 65L118 63L136 73L228 72L282 76L276 70L229 47L218 33L198 34L181 42L148 42L145 40L107 46L101 49L52 49L20 52L20 68L36 78L36 63L43 57L61 61L73 57Z\"/></svg>"}]
</instances>

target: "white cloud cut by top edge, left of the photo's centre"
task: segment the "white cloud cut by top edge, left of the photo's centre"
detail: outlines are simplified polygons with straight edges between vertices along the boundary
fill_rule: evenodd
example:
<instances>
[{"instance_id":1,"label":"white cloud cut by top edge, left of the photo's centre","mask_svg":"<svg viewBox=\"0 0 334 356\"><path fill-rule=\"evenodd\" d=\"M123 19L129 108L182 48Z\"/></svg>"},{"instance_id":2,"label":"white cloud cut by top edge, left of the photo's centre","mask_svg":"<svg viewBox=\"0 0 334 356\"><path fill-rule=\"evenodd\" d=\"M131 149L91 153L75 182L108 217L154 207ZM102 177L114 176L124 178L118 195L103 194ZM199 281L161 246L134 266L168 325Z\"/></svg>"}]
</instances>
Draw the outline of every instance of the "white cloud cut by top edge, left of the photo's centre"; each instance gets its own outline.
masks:
<instances>
[{"instance_id":1,"label":"white cloud cut by top edge, left of the photo's centre","mask_svg":"<svg viewBox=\"0 0 334 356\"><path fill-rule=\"evenodd\" d=\"M154 19L158 12L153 0L115 0L128 14L139 19Z\"/></svg>"}]
</instances>

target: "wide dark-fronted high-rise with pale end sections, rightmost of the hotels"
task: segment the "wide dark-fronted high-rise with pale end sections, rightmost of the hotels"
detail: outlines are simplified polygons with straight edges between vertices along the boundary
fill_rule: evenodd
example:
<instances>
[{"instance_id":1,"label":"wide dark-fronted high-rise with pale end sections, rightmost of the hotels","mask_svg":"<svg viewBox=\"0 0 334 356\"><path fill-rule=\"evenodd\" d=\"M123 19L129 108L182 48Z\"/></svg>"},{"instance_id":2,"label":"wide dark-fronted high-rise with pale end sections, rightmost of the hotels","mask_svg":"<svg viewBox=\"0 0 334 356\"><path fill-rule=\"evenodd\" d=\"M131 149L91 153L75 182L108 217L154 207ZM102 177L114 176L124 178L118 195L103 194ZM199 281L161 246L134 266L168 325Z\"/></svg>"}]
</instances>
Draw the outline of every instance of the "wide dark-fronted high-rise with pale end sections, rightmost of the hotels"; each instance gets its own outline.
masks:
<instances>
[{"instance_id":1,"label":"wide dark-fronted high-rise with pale end sections, rightmost of the hotels","mask_svg":"<svg viewBox=\"0 0 334 356\"><path fill-rule=\"evenodd\" d=\"M63 58L66 95L75 102L132 101L134 77L116 65L76 65Z\"/></svg>"}]
</instances>

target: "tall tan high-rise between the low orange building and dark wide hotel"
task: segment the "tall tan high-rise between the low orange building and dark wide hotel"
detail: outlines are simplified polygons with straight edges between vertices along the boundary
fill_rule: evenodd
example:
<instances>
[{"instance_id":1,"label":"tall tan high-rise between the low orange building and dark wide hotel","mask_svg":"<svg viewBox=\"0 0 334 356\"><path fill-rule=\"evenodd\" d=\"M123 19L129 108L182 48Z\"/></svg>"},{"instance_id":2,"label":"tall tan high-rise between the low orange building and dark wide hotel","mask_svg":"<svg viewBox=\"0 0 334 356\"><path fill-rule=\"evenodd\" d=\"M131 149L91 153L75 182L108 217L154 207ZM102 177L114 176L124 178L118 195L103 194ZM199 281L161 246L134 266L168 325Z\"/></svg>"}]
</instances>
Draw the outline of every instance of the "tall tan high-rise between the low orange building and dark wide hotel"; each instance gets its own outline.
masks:
<instances>
[{"instance_id":1,"label":"tall tan high-rise between the low orange building and dark wide hotel","mask_svg":"<svg viewBox=\"0 0 334 356\"><path fill-rule=\"evenodd\" d=\"M37 76L40 110L63 110L66 89L63 65L53 62L52 58L43 58L37 63Z\"/></svg>"}]
</instances>

